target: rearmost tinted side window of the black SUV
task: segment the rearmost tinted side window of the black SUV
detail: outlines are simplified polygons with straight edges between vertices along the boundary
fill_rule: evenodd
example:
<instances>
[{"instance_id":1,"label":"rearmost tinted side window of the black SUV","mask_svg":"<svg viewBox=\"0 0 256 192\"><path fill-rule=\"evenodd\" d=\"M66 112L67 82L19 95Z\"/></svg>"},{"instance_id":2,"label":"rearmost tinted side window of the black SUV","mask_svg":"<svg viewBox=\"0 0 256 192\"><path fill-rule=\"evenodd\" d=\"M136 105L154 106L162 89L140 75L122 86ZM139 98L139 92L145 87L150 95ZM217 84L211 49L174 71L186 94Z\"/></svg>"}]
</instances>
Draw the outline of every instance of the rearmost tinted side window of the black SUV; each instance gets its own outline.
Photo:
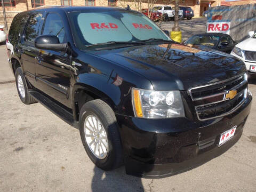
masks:
<instances>
[{"instance_id":1,"label":"rearmost tinted side window of the black SUV","mask_svg":"<svg viewBox=\"0 0 256 192\"><path fill-rule=\"evenodd\" d=\"M11 44L18 44L19 36L20 34L22 34L22 29L23 26L25 25L26 18L26 13L18 14L13 18L8 37L8 40L10 41Z\"/></svg>"}]
</instances>

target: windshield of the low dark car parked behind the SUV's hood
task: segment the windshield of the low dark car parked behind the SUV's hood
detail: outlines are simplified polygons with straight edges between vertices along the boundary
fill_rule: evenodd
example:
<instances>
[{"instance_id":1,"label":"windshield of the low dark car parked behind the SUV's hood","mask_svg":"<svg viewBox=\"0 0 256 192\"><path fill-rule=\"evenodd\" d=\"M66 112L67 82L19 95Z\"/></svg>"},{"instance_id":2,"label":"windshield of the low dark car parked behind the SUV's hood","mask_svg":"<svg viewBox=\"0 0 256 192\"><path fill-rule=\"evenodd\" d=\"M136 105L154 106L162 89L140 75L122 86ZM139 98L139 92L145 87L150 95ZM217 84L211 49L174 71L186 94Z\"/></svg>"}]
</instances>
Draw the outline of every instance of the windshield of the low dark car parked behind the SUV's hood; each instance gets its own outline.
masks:
<instances>
[{"instance_id":1,"label":"windshield of the low dark car parked behind the SUV's hood","mask_svg":"<svg viewBox=\"0 0 256 192\"><path fill-rule=\"evenodd\" d=\"M196 45L216 46L219 42L219 36L215 35L195 35L190 37L185 43Z\"/></svg>"}]
</instances>

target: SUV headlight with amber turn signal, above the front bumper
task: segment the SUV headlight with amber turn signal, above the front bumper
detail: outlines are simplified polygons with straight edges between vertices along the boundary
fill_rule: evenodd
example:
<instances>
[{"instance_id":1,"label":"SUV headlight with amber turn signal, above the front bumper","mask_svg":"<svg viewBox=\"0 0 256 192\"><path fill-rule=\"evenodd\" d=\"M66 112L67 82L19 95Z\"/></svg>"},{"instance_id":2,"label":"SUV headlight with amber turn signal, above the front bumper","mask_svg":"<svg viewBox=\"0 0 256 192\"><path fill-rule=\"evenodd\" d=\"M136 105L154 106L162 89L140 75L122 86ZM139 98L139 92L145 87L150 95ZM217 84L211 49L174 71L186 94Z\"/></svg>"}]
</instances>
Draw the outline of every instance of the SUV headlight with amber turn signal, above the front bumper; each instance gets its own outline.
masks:
<instances>
[{"instance_id":1,"label":"SUV headlight with amber turn signal, above the front bumper","mask_svg":"<svg viewBox=\"0 0 256 192\"><path fill-rule=\"evenodd\" d=\"M180 91L132 89L134 114L142 118L184 117Z\"/></svg>"}]
</instances>

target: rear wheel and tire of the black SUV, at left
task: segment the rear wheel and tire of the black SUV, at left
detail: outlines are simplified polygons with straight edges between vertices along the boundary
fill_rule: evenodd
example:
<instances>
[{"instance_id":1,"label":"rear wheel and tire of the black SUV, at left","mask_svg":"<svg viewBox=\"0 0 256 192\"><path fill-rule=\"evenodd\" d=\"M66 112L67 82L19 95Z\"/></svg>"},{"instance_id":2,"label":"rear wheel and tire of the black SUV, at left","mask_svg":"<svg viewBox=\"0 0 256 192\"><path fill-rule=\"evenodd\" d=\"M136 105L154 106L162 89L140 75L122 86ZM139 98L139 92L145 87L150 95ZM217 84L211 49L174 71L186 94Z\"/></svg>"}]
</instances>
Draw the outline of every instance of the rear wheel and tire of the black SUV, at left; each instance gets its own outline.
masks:
<instances>
[{"instance_id":1,"label":"rear wheel and tire of the black SUV, at left","mask_svg":"<svg viewBox=\"0 0 256 192\"><path fill-rule=\"evenodd\" d=\"M21 67L18 67L15 71L15 82L20 100L23 103L29 105L37 102L28 92L27 82Z\"/></svg>"}]
</instances>

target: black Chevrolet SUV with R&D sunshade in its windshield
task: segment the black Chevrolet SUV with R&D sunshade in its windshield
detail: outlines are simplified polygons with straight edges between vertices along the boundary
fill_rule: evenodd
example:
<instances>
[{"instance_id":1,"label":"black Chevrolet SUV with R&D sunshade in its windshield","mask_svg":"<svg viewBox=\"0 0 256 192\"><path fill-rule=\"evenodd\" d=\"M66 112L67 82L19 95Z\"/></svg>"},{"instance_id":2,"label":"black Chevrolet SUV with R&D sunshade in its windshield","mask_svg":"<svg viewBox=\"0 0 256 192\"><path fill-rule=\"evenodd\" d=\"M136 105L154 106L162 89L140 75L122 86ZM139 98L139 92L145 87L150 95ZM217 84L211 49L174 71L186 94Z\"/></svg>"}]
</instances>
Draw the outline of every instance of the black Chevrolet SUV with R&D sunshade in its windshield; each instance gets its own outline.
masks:
<instances>
[{"instance_id":1,"label":"black Chevrolet SUV with R&D sunshade in its windshield","mask_svg":"<svg viewBox=\"0 0 256 192\"><path fill-rule=\"evenodd\" d=\"M130 9L21 12L7 46L21 101L77 127L103 170L186 171L233 146L250 113L243 61L173 42Z\"/></svg>"}]
</instances>

